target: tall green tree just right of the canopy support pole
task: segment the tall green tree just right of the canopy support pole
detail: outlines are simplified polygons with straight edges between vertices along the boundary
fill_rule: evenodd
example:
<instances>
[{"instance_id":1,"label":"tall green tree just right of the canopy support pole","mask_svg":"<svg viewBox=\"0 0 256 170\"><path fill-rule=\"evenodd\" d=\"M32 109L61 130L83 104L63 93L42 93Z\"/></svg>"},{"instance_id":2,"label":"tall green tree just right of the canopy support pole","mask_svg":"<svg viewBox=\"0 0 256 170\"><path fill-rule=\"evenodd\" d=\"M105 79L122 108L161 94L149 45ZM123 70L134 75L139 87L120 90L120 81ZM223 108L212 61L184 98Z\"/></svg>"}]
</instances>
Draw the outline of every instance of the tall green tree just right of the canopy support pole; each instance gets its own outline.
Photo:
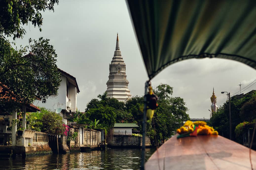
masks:
<instances>
[{"instance_id":1,"label":"tall green tree just right of the canopy support pole","mask_svg":"<svg viewBox=\"0 0 256 170\"><path fill-rule=\"evenodd\" d=\"M155 110L152 126L156 131L158 140L171 137L184 120L189 119L186 103L180 97L172 97L173 87L168 84L160 84L153 89L158 96L158 108ZM148 129L148 135L152 136L152 129Z\"/></svg>"}]
</instances>

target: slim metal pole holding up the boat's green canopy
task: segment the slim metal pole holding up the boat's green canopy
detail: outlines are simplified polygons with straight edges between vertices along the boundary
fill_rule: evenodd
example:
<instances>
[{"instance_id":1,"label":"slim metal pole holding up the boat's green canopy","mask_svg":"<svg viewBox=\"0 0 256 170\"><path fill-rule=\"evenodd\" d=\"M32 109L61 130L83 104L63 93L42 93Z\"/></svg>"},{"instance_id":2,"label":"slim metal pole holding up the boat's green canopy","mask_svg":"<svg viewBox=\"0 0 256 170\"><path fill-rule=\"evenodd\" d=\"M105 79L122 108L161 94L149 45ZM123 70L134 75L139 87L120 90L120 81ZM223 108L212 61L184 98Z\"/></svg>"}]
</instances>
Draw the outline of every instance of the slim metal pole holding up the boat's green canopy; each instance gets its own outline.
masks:
<instances>
[{"instance_id":1,"label":"slim metal pole holding up the boat's green canopy","mask_svg":"<svg viewBox=\"0 0 256 170\"><path fill-rule=\"evenodd\" d=\"M145 163L145 138L146 138L146 113L147 113L147 89L149 86L149 81L145 83L145 95L144 95L144 112L143 112L143 122L142 122L142 152L141 152L141 169L144 170L144 163Z\"/></svg>"}]
</instances>

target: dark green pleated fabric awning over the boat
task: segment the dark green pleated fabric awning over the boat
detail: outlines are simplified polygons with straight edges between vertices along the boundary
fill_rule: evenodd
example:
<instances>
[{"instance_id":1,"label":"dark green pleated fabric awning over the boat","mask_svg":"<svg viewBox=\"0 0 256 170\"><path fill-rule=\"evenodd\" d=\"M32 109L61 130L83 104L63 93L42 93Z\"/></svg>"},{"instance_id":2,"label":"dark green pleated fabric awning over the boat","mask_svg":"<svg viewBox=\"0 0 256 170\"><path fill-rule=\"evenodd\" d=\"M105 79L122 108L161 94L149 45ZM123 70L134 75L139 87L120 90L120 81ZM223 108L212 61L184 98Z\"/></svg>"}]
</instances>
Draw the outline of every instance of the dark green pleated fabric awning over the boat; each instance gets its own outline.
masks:
<instances>
[{"instance_id":1,"label":"dark green pleated fabric awning over the boat","mask_svg":"<svg viewBox=\"0 0 256 170\"><path fill-rule=\"evenodd\" d=\"M256 69L256 1L127 0L148 77L190 58Z\"/></svg>"}]
</instances>

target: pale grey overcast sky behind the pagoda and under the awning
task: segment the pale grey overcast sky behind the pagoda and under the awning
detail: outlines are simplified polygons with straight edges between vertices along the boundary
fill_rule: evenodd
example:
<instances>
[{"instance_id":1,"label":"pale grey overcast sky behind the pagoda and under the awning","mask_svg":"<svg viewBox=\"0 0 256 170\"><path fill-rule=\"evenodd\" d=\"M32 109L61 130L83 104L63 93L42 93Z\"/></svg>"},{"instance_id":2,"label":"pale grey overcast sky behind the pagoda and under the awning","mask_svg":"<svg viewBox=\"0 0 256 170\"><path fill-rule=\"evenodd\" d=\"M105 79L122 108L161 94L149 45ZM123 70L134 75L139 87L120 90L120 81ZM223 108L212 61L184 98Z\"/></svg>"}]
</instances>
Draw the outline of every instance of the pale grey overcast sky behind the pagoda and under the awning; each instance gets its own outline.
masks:
<instances>
[{"instance_id":1,"label":"pale grey overcast sky behind the pagoda and under the awning","mask_svg":"<svg viewBox=\"0 0 256 170\"><path fill-rule=\"evenodd\" d=\"M107 89L109 63L119 33L120 50L126 63L128 87L132 96L143 95L148 79L125 1L60 1L55 12L44 12L42 32L32 24L24 26L27 34L16 45L28 45L28 39L44 37L56 49L57 65L76 77L80 93L77 107L86 104ZM152 79L152 86L166 83L173 96L184 98L190 118L209 118L214 87L217 105L256 79L249 66L225 59L190 59L167 67ZM244 91L256 89L256 84Z\"/></svg>"}]
</instances>

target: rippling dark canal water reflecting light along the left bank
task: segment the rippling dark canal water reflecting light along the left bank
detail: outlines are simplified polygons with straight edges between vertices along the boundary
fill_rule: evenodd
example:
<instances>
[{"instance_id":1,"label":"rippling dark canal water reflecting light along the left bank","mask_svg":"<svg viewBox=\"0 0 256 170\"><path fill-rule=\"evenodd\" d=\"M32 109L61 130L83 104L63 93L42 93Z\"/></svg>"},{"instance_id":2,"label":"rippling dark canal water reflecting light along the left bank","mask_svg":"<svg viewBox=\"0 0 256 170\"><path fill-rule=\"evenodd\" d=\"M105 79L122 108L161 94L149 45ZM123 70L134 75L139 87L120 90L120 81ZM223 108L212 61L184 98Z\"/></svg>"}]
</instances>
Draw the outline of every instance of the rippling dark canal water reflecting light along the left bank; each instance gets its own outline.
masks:
<instances>
[{"instance_id":1,"label":"rippling dark canal water reflecting light along the left bank","mask_svg":"<svg viewBox=\"0 0 256 170\"><path fill-rule=\"evenodd\" d=\"M155 149L147 148L146 160ZM87 153L28 156L1 160L0 169L140 169L141 149L106 149Z\"/></svg>"}]
</instances>

